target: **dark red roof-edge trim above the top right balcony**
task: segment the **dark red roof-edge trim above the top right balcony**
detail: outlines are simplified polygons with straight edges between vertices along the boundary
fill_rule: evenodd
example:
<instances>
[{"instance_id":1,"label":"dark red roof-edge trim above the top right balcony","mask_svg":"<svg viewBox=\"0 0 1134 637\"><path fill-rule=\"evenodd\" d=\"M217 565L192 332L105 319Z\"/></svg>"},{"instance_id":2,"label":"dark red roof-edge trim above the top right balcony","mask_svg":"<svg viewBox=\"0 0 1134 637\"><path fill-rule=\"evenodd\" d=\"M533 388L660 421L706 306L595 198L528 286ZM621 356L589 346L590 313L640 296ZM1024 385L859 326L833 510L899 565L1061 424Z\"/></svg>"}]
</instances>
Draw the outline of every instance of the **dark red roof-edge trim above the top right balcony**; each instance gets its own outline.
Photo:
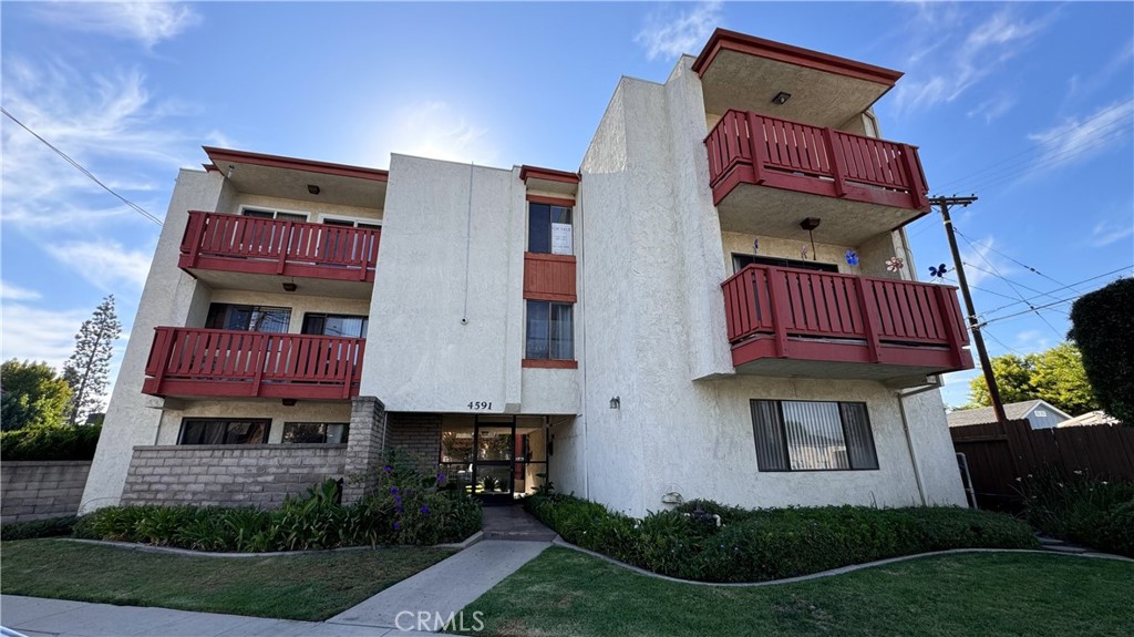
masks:
<instances>
[{"instance_id":1,"label":"dark red roof-edge trim above the top right balcony","mask_svg":"<svg viewBox=\"0 0 1134 637\"><path fill-rule=\"evenodd\" d=\"M792 46L790 44L745 35L743 33L727 31L723 28L718 28L713 32L712 36L709 37L709 42L705 44L705 48L701 50L701 54L697 56L696 61L693 62L694 73L704 77L705 70L708 70L708 68L712 65L713 59L722 50L737 51L750 56L767 58L769 60L787 62L789 65L845 75L856 79L874 82L883 86L894 86L898 78L904 75L902 71L877 67L874 65L868 65L865 62L858 62L847 58L839 58L838 56L831 56L829 53L820 53L819 51L812 51L811 49Z\"/></svg>"}]
</instances>

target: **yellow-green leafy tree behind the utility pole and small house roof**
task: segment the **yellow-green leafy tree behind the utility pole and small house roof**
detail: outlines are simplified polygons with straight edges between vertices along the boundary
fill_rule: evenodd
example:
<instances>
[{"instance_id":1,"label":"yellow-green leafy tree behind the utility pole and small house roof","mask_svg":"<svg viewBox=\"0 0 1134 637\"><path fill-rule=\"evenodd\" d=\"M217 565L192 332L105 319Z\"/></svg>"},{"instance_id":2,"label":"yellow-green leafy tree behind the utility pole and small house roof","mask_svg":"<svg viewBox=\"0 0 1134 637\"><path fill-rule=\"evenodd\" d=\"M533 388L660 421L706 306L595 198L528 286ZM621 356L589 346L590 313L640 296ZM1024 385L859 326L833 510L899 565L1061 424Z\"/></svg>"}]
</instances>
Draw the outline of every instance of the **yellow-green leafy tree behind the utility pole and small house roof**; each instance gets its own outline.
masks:
<instances>
[{"instance_id":1,"label":"yellow-green leafy tree behind the utility pole and small house roof","mask_svg":"<svg viewBox=\"0 0 1134 637\"><path fill-rule=\"evenodd\" d=\"M1059 343L1027 356L997 356L992 358L992 374L1005 402L1044 400L1072 416L1099 408L1083 368L1082 355L1072 343ZM970 388L972 402L968 407L992 405L983 376L973 379Z\"/></svg>"}]
</instances>

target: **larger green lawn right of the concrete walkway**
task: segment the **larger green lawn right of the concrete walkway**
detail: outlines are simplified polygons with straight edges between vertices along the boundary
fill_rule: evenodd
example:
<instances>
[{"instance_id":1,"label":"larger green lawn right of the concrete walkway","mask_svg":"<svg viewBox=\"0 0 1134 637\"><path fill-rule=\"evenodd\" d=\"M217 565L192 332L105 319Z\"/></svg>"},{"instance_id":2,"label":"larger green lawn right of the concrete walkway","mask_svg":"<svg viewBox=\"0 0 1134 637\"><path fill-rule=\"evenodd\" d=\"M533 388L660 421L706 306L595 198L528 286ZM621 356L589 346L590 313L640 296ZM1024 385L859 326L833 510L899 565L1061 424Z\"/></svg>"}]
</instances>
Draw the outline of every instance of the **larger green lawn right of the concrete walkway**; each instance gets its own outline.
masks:
<instances>
[{"instance_id":1,"label":"larger green lawn right of the concrete walkway","mask_svg":"<svg viewBox=\"0 0 1134 637\"><path fill-rule=\"evenodd\" d=\"M644 577L552 547L473 604L477 635L1128 636L1134 564L1035 553L921 558L737 588ZM472 621L471 619L468 621Z\"/></svg>"}]
</instances>

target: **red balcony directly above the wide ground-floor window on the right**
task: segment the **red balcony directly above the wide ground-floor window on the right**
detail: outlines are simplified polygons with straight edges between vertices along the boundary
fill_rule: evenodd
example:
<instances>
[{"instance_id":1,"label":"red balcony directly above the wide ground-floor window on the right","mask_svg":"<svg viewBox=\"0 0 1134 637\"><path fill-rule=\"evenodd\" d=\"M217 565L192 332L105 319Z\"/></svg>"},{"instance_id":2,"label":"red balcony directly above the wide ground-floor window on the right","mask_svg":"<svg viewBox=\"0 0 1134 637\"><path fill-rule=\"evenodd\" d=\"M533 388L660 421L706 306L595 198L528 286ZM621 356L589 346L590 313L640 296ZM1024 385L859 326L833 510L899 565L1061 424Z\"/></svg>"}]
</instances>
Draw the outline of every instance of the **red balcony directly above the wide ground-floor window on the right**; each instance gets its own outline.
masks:
<instances>
[{"instance_id":1,"label":"red balcony directly above the wide ground-floor window on the right","mask_svg":"<svg viewBox=\"0 0 1134 637\"><path fill-rule=\"evenodd\" d=\"M750 265L721 288L738 373L897 381L973 367L949 286Z\"/></svg>"}]
</instances>

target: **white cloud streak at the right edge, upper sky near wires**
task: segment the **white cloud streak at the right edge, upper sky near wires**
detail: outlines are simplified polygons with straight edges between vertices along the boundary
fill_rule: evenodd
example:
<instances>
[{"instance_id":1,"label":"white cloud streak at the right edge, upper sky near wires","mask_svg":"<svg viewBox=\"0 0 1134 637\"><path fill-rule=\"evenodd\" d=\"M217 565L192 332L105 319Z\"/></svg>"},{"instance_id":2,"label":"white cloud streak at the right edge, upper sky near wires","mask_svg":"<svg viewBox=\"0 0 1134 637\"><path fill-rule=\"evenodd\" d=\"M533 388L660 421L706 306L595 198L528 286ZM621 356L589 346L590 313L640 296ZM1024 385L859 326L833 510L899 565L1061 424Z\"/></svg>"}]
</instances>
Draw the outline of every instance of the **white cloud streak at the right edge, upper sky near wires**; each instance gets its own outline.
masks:
<instances>
[{"instance_id":1,"label":"white cloud streak at the right edge, upper sky near wires","mask_svg":"<svg viewBox=\"0 0 1134 637\"><path fill-rule=\"evenodd\" d=\"M1082 161L1126 139L1134 122L1134 102L1107 104L1083 118L1070 118L1047 130L1032 133L1029 139L1043 146L1035 163L1043 169Z\"/></svg>"}]
</instances>

